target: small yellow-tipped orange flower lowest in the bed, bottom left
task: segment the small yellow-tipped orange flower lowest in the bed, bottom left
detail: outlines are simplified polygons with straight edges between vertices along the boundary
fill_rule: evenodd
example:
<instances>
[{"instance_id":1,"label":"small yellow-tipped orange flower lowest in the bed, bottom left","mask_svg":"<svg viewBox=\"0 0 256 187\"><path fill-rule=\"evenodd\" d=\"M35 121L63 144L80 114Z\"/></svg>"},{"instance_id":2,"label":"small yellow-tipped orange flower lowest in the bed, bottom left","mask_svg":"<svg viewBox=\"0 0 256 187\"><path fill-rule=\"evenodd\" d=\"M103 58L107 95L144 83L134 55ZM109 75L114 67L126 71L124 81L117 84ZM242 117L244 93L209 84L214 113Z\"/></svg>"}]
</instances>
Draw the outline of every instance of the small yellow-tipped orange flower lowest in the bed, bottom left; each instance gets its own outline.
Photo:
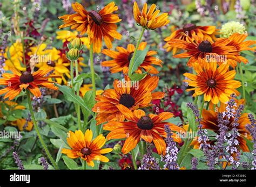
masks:
<instances>
[{"instance_id":1,"label":"small yellow-tipped orange flower lowest in the bed, bottom left","mask_svg":"<svg viewBox=\"0 0 256 187\"><path fill-rule=\"evenodd\" d=\"M102 154L112 152L112 148L102 149L106 139L100 134L92 140L92 130L87 129L85 133L81 130L69 131L69 137L66 138L71 149L62 149L62 153L66 154L71 159L80 157L85 160L88 166L94 167L93 160L101 162L109 162L106 156Z\"/></svg>"}]
</instances>

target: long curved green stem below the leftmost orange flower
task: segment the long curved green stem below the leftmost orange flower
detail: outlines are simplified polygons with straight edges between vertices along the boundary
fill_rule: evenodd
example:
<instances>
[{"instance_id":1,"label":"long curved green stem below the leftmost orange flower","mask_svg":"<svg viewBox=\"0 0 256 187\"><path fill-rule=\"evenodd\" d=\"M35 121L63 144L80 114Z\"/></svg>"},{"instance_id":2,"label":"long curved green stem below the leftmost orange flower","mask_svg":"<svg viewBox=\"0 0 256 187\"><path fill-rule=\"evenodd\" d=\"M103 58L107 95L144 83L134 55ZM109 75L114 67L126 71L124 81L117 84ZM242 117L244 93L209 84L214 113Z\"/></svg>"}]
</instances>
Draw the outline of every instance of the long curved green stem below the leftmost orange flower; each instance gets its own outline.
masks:
<instances>
[{"instance_id":1,"label":"long curved green stem below the leftmost orange flower","mask_svg":"<svg viewBox=\"0 0 256 187\"><path fill-rule=\"evenodd\" d=\"M47 148L47 146L46 146L46 144L45 144L45 142L44 142L44 140L43 140L43 138L42 138L42 136L41 136L41 134L40 134L40 132L39 132L39 128L38 128L38 126L37 126L36 118L35 118L35 115L34 115L33 109L32 109L31 98L30 98L30 92L29 92L28 89L26 89L26 96L28 97L29 110L30 110L31 118L32 118L32 121L33 121L33 125L34 125L34 127L35 127L35 130L36 130L36 133L37 133L37 135L38 135L38 138L39 138L39 140L41 141L42 146L44 147L45 153L47 154L47 156L49 157L51 163L53 164L53 167L54 167L55 169L59 169L58 166L57 166L57 164L56 164L56 162L53 160L53 158L52 158L52 156L51 156L51 154L50 154L50 152L49 152L49 150L48 150L48 148Z\"/></svg>"}]
</instances>

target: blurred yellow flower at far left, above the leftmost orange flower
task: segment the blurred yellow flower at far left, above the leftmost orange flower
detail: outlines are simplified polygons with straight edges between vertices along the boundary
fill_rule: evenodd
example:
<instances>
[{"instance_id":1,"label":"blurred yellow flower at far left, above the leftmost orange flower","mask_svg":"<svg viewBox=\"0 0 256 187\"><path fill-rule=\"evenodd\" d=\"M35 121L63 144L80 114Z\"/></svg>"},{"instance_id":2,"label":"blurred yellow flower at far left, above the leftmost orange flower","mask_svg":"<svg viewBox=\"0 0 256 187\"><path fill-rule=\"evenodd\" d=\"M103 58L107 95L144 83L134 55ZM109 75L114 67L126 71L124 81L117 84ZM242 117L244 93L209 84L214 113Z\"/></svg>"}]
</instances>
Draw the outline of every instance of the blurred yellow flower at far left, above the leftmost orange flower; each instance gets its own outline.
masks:
<instances>
[{"instance_id":1,"label":"blurred yellow flower at far left, above the leftmost orange flower","mask_svg":"<svg viewBox=\"0 0 256 187\"><path fill-rule=\"evenodd\" d=\"M4 53L5 66L4 70L10 70L12 68L16 68L20 71L25 71L26 68L23 64L23 48L22 43L17 40L10 47L7 47Z\"/></svg>"}]
</instances>

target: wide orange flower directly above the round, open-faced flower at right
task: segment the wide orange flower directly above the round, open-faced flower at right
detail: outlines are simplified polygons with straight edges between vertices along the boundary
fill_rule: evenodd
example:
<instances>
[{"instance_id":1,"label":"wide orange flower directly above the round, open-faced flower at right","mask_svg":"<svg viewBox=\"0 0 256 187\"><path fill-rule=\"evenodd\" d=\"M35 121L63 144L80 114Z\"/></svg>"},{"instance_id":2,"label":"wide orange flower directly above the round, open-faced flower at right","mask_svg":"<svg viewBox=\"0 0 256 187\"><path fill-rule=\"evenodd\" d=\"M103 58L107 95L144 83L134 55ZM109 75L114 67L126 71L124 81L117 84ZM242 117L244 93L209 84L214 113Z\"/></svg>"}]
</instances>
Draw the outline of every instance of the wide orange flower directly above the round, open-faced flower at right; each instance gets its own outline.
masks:
<instances>
[{"instance_id":1,"label":"wide orange flower directly above the round, open-faced flower at right","mask_svg":"<svg viewBox=\"0 0 256 187\"><path fill-rule=\"evenodd\" d=\"M185 35L185 33L183 33ZM187 50L185 53L174 55L174 58L190 57L187 66L192 67L193 63L198 62L202 65L205 62L228 63L230 59L240 61L237 57L239 55L237 48L234 46L227 46L228 39L221 39L215 42L204 40L203 38L193 35L193 39L187 37L189 42L181 39L171 39L168 44L170 47L177 47Z\"/></svg>"}]
</instances>

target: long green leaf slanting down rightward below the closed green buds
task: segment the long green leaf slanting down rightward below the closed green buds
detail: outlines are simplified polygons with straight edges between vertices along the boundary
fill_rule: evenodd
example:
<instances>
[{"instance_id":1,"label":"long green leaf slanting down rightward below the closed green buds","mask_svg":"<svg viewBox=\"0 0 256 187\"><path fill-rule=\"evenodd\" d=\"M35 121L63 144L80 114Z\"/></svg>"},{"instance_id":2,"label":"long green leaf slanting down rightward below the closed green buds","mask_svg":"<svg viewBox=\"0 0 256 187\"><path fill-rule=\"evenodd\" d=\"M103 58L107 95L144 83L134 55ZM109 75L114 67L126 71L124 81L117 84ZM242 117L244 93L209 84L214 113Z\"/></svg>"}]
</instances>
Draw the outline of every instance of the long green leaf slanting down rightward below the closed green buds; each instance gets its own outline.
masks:
<instances>
[{"instance_id":1,"label":"long green leaf slanting down rightward below the closed green buds","mask_svg":"<svg viewBox=\"0 0 256 187\"><path fill-rule=\"evenodd\" d=\"M80 97L75 95L71 88L66 87L65 85L58 85L59 91L64 94L65 99L69 100L70 102L74 102L79 104L80 106L84 107L88 112L92 113L91 110L86 106L84 100Z\"/></svg>"}]
</instances>

